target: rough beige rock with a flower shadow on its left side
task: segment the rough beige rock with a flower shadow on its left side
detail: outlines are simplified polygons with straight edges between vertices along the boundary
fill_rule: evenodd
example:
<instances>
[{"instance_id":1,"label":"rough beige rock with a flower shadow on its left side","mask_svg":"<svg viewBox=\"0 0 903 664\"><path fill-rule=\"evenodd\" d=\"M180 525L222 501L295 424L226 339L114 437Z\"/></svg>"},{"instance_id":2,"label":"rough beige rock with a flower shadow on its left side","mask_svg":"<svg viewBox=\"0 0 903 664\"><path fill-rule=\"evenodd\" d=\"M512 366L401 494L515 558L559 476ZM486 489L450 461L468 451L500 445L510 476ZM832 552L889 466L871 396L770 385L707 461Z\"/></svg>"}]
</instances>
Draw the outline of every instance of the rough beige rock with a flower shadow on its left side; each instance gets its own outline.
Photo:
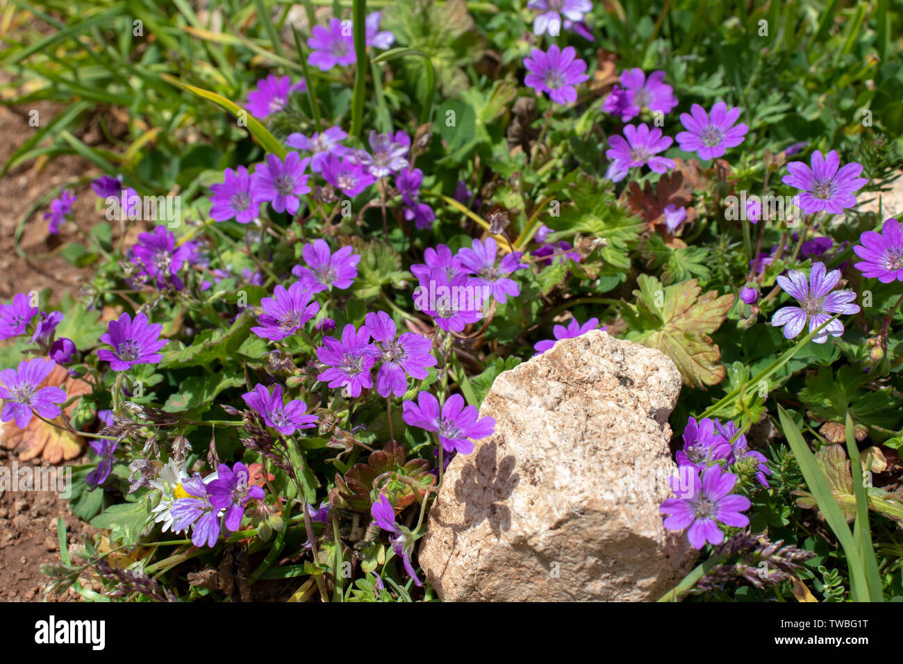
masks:
<instances>
[{"instance_id":1,"label":"rough beige rock with a flower shadow on its left side","mask_svg":"<svg viewBox=\"0 0 903 664\"><path fill-rule=\"evenodd\" d=\"M657 599L694 552L658 506L675 472L663 353L594 331L498 376L496 431L449 465L419 561L443 601Z\"/></svg>"}]
</instances>

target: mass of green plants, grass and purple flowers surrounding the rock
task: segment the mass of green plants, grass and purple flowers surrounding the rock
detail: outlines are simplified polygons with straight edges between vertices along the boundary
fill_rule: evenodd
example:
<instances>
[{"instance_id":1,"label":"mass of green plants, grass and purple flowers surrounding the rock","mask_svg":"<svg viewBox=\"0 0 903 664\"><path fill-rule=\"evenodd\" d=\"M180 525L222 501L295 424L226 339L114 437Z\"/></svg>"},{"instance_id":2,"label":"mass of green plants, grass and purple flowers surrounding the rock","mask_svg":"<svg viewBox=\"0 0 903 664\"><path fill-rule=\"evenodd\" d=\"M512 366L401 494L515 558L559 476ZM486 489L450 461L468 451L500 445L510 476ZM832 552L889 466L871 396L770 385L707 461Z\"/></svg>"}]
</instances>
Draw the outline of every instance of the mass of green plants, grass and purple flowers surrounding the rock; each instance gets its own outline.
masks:
<instances>
[{"instance_id":1,"label":"mass of green plants, grass and purple flowers surrounding the rock","mask_svg":"<svg viewBox=\"0 0 903 664\"><path fill-rule=\"evenodd\" d=\"M21 227L92 276L0 304L0 416L102 531L48 592L434 600L493 380L604 329L684 382L663 601L903 598L890 3L40 5L4 172L87 160Z\"/></svg>"}]
</instances>

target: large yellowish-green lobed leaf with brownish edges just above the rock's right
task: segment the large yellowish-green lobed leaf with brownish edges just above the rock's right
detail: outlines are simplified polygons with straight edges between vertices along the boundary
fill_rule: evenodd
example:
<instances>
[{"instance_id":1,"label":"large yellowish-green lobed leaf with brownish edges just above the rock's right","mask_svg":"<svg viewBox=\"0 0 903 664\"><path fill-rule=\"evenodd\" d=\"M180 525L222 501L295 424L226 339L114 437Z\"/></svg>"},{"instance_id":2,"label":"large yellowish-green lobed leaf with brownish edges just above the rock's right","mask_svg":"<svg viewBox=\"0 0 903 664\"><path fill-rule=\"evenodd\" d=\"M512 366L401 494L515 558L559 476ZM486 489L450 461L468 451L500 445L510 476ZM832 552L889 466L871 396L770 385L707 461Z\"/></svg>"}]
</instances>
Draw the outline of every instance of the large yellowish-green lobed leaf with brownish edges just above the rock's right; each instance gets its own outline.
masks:
<instances>
[{"instance_id":1,"label":"large yellowish-green lobed leaf with brownish edges just above the rock's right","mask_svg":"<svg viewBox=\"0 0 903 664\"><path fill-rule=\"evenodd\" d=\"M717 385L724 379L721 349L709 336L724 322L733 295L710 291L702 297L695 279L663 287L654 276L640 275L635 306L621 315L629 325L624 337L656 348L674 360L686 385Z\"/></svg>"}]
</instances>

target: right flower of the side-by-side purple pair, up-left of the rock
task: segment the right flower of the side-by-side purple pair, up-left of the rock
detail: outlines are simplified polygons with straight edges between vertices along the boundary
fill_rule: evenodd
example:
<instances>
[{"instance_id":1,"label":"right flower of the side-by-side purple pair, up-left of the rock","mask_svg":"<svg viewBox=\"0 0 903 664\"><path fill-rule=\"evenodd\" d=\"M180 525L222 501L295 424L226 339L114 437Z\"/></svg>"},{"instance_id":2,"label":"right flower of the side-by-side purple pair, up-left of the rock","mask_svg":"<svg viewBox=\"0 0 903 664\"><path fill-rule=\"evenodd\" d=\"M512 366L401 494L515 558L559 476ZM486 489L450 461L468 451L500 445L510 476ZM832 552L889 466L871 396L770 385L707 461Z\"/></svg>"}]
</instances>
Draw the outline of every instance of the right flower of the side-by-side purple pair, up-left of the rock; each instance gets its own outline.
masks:
<instances>
[{"instance_id":1,"label":"right flower of the side-by-side purple pair, up-left of the rock","mask_svg":"<svg viewBox=\"0 0 903 664\"><path fill-rule=\"evenodd\" d=\"M407 389L405 373L413 379L425 380L427 367L436 366L430 352L433 341L421 334L404 332L396 341L396 324L386 312L368 313L367 331L373 337L382 364L377 372L377 393L380 397L394 394L402 397Z\"/></svg>"}]
</instances>

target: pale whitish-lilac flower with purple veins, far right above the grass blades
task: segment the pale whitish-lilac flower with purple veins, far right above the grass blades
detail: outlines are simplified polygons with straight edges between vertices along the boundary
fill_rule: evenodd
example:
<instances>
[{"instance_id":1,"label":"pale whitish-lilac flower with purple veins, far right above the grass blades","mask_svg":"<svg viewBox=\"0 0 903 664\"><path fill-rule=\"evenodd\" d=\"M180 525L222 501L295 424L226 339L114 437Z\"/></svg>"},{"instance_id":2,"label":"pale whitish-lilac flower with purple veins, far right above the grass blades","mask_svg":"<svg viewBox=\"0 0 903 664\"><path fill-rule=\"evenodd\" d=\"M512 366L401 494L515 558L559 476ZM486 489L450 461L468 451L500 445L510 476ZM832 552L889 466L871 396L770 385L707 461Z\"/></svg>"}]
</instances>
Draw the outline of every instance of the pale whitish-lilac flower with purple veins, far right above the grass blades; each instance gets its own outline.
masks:
<instances>
[{"instance_id":1,"label":"pale whitish-lilac flower with purple veins, far right above the grass blades","mask_svg":"<svg viewBox=\"0 0 903 664\"><path fill-rule=\"evenodd\" d=\"M825 273L824 263L814 263L806 283L805 274L790 270L787 276L778 276L777 284L793 295L801 306L786 306L771 317L771 324L784 327L784 336L793 339L803 331L806 320L809 332L815 330L831 318L832 313L858 313L859 304L852 304L856 294L852 291L831 290L841 280L840 270ZM829 295L830 294L830 295ZM815 343L828 341L828 334L839 337L843 333L843 323L834 320L813 337Z\"/></svg>"}]
</instances>

